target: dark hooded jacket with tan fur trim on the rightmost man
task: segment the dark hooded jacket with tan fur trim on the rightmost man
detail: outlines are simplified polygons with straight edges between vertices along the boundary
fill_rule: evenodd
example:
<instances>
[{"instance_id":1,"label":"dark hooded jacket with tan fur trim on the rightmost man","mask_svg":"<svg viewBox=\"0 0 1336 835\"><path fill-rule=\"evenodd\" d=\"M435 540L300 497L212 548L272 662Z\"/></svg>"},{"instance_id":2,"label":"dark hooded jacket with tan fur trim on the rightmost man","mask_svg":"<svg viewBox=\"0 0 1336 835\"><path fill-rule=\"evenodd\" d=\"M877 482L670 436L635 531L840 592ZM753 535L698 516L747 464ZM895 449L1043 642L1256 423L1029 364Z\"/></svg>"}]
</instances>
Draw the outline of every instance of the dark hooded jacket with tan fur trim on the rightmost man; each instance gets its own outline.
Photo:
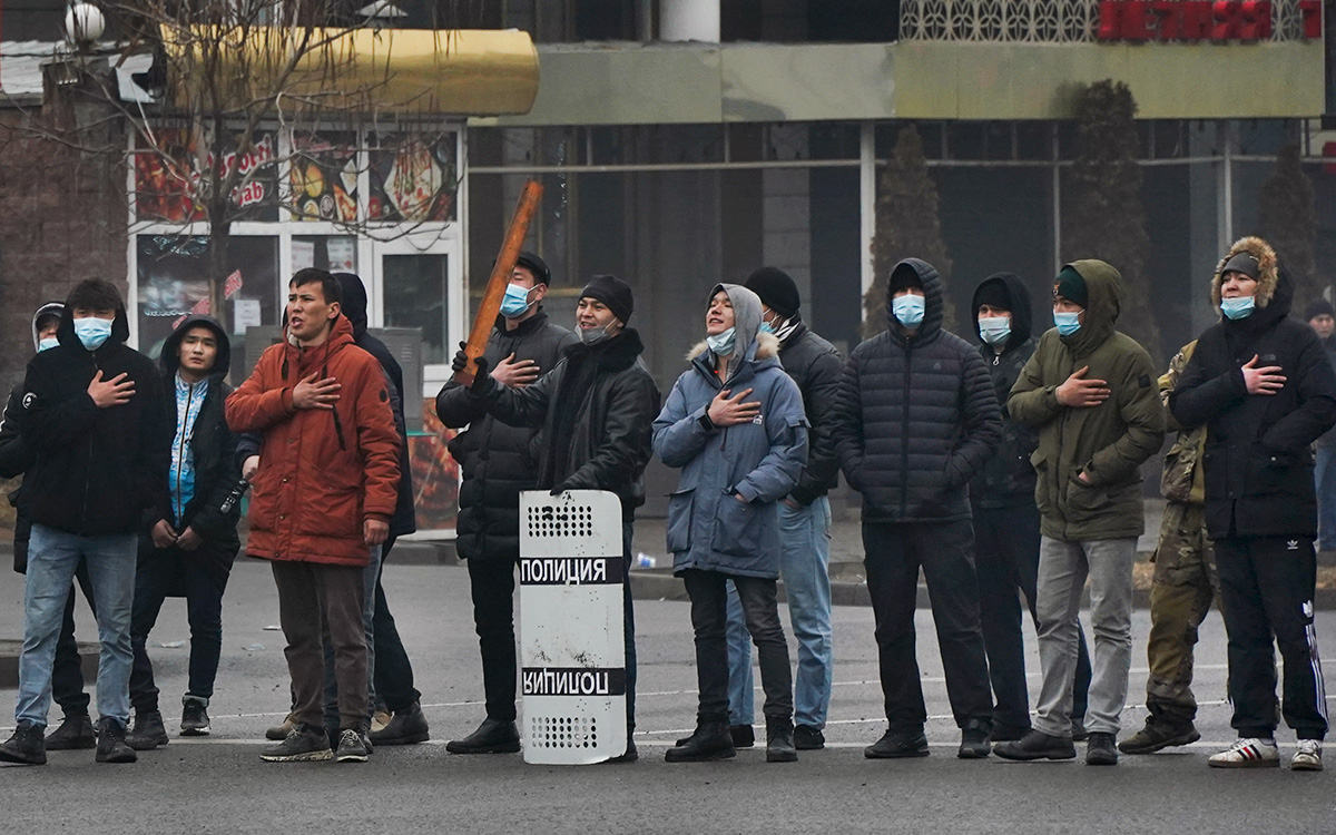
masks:
<instances>
[{"instance_id":1,"label":"dark hooded jacket with tan fur trim on the rightmost man","mask_svg":"<svg viewBox=\"0 0 1336 835\"><path fill-rule=\"evenodd\" d=\"M1244 238L1221 261L1212 285L1216 305L1224 263L1238 251L1261 263L1257 307L1201 334L1169 395L1169 409L1184 426L1206 425L1210 538L1313 537L1312 442L1336 424L1336 374L1313 329L1291 318L1293 283L1265 242ZM1280 391L1248 393L1240 369L1253 357L1259 366L1280 366L1285 375Z\"/></svg>"}]
</instances>

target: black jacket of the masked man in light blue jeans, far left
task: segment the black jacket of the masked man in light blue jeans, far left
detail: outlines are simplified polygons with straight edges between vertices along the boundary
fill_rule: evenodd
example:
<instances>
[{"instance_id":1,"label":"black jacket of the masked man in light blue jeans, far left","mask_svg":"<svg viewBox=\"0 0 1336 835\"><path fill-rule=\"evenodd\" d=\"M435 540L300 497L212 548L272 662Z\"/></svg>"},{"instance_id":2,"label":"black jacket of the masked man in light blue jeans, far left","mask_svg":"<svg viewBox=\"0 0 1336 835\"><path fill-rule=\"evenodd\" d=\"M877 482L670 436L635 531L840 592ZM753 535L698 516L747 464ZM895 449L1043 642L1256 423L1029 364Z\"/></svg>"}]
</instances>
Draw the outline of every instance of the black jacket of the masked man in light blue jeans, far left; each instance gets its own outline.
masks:
<instances>
[{"instance_id":1,"label":"black jacket of the masked man in light blue jeans, far left","mask_svg":"<svg viewBox=\"0 0 1336 835\"><path fill-rule=\"evenodd\" d=\"M135 533L167 482L172 426L162 374L128 347L130 322L116 309L111 337L96 351L75 335L68 303L56 331L60 345L28 362L20 434L36 460L24 476L24 497L39 525L80 536ZM128 402L99 409L88 383L126 374Z\"/></svg>"}]
</instances>

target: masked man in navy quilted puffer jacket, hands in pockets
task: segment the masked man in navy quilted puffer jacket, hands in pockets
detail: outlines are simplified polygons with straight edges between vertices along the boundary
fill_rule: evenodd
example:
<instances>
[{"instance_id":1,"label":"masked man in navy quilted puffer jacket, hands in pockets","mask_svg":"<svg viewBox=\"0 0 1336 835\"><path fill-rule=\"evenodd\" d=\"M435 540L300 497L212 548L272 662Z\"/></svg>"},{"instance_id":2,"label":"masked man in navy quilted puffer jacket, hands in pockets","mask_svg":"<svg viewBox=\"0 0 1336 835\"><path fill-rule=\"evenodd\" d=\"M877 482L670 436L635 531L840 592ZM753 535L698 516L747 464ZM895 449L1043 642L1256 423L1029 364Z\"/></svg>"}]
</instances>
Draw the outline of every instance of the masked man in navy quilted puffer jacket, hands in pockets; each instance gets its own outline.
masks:
<instances>
[{"instance_id":1,"label":"masked man in navy quilted puffer jacket, hands in pockets","mask_svg":"<svg viewBox=\"0 0 1336 835\"><path fill-rule=\"evenodd\" d=\"M844 477L863 494L867 589L890 724L863 754L927 756L914 657L922 565L951 712L963 732L958 755L977 759L989 754L993 699L966 485L1001 440L1002 417L979 353L942 330L937 270L902 261L887 294L890 330L850 355L835 436Z\"/></svg>"}]
</instances>

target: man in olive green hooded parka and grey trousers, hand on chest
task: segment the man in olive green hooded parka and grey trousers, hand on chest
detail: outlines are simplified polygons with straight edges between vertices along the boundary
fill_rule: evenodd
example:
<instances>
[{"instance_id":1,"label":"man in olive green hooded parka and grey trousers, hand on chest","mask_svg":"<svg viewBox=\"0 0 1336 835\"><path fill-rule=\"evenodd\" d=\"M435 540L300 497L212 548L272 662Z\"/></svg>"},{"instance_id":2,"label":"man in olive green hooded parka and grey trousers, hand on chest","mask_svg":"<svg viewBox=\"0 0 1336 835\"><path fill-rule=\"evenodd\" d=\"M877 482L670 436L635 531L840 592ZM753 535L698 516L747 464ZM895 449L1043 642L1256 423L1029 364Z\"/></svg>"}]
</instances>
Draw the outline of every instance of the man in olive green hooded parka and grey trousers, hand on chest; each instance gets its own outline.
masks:
<instances>
[{"instance_id":1,"label":"man in olive green hooded parka and grey trousers, hand on chest","mask_svg":"<svg viewBox=\"0 0 1336 835\"><path fill-rule=\"evenodd\" d=\"M1141 464L1165 420L1150 355L1114 330L1122 282L1102 261L1058 273L1053 321L1011 387L1011 420L1039 433L1031 456L1042 534L1035 608L1043 684L1033 729L994 752L1011 760L1074 759L1071 687L1077 615L1090 577L1094 676L1086 764L1113 766L1132 667L1132 562L1145 529Z\"/></svg>"}]
</instances>

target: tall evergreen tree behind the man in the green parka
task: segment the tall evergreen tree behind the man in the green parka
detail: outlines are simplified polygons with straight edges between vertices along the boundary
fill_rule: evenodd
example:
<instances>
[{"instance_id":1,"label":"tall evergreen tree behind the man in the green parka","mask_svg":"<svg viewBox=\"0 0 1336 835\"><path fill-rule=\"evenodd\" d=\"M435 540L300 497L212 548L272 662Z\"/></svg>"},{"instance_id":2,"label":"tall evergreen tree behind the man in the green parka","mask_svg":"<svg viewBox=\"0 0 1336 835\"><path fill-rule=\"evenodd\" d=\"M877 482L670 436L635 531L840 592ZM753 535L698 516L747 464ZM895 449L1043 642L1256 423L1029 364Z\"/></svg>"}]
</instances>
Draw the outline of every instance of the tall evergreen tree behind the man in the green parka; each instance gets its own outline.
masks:
<instances>
[{"instance_id":1,"label":"tall evergreen tree behind the man in the green parka","mask_svg":"<svg viewBox=\"0 0 1336 835\"><path fill-rule=\"evenodd\" d=\"M1118 330L1158 363L1160 326L1150 309L1150 235L1137 166L1137 103L1122 81L1098 81L1077 95L1077 158L1066 176L1062 258L1098 258L1122 274Z\"/></svg>"}]
</instances>

